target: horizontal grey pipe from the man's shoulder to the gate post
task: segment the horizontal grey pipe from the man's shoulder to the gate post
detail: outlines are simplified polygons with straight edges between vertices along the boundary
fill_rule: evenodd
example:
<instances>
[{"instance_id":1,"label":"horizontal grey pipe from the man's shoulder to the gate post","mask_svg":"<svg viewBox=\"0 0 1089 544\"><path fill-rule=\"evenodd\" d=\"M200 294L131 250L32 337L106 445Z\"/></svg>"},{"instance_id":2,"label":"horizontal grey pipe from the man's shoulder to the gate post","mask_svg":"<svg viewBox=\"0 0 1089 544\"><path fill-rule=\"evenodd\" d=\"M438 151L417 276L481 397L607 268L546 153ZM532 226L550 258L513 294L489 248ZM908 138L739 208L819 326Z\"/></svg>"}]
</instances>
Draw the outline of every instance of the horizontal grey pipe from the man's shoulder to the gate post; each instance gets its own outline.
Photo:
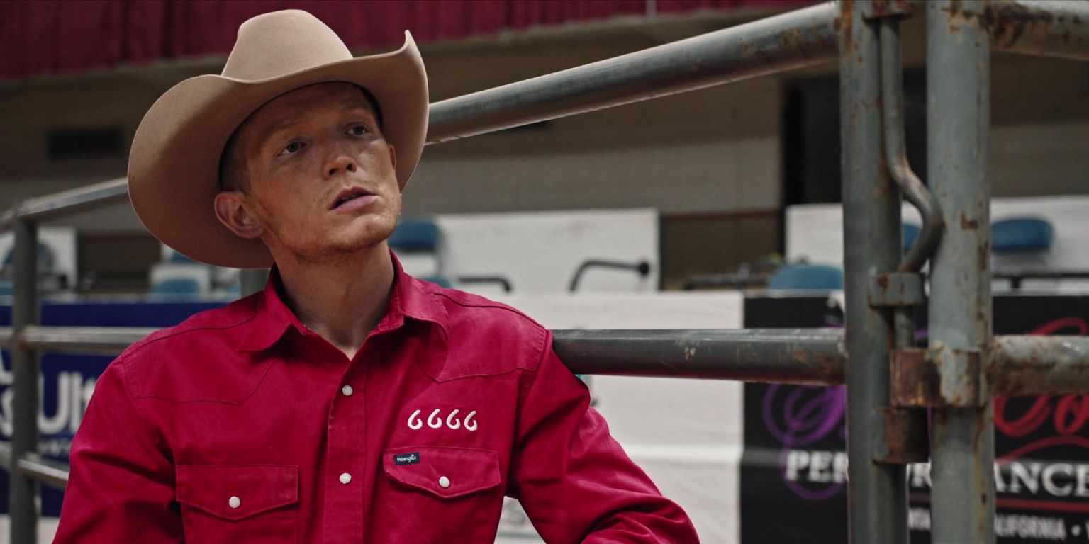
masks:
<instances>
[{"instance_id":1,"label":"horizontal grey pipe from the man's shoulder to the gate post","mask_svg":"<svg viewBox=\"0 0 1089 544\"><path fill-rule=\"evenodd\" d=\"M578 374L840 384L843 333L823 329L553 331Z\"/></svg>"}]
</instances>

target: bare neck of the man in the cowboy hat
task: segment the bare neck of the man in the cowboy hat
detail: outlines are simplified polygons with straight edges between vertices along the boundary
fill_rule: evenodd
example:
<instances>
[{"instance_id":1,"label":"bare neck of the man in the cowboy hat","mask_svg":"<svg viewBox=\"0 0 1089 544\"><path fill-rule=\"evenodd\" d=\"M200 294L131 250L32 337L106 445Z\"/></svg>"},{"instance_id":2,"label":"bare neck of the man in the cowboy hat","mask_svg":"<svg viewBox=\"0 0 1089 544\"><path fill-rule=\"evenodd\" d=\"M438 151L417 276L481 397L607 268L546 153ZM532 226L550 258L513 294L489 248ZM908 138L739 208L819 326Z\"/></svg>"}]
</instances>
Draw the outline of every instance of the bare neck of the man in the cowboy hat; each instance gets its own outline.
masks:
<instances>
[{"instance_id":1,"label":"bare neck of the man in the cowboy hat","mask_svg":"<svg viewBox=\"0 0 1089 544\"><path fill-rule=\"evenodd\" d=\"M393 261L386 243L352 259L314 263L277 261L284 304L310 331L355 356L386 314L393 287Z\"/></svg>"}]
</instances>

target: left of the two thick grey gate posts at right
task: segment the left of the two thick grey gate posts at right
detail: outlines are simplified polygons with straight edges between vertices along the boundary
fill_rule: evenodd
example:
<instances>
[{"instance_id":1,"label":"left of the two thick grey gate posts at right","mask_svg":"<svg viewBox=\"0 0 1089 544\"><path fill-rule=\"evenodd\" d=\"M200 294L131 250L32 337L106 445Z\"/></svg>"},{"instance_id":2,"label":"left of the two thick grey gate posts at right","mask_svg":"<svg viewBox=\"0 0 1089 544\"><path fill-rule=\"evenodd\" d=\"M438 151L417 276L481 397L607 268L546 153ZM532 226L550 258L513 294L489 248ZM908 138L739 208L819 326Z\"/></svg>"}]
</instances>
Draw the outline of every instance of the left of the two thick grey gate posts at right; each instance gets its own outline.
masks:
<instances>
[{"instance_id":1,"label":"left of the two thick grey gate posts at right","mask_svg":"<svg viewBox=\"0 0 1089 544\"><path fill-rule=\"evenodd\" d=\"M869 1L844 1L840 30L840 131L846 288L847 506L853 544L905 544L904 467L873 461L889 406L892 316L872 308L867 289L901 259L900 190L882 153L880 51Z\"/></svg>"}]
</instances>

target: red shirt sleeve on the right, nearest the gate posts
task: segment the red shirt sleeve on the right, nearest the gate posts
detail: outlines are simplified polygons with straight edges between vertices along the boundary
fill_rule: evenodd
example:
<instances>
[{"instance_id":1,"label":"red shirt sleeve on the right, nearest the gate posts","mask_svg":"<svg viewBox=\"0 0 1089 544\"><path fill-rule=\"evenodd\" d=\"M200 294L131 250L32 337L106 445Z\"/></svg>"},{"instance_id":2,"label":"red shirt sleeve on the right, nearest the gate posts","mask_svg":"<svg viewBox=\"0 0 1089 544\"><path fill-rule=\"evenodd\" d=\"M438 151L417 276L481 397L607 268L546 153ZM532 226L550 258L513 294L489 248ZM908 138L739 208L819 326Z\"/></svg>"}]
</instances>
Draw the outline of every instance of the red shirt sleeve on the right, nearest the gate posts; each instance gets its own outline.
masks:
<instances>
[{"instance_id":1,"label":"red shirt sleeve on the right, nearest the gate posts","mask_svg":"<svg viewBox=\"0 0 1089 544\"><path fill-rule=\"evenodd\" d=\"M699 542L684 510L610 436L551 333L524 393L509 491L548 544Z\"/></svg>"}]
</instances>

